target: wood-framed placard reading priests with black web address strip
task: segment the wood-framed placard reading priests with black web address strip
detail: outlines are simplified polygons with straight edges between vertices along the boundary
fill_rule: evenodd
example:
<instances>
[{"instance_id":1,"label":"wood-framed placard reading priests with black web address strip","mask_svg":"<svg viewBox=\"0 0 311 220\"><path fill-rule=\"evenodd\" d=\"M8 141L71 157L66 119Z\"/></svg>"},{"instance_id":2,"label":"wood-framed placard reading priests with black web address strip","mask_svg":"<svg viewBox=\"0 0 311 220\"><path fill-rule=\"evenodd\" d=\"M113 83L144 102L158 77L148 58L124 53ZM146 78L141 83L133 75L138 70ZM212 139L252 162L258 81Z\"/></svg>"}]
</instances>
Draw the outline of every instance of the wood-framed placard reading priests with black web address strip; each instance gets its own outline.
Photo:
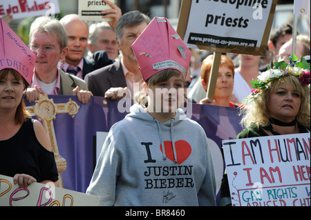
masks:
<instances>
[{"instance_id":1,"label":"wood-framed placard reading priests with black web address strip","mask_svg":"<svg viewBox=\"0 0 311 220\"><path fill-rule=\"evenodd\" d=\"M182 1L177 32L189 48L265 55L276 1Z\"/></svg>"}]
</instances>

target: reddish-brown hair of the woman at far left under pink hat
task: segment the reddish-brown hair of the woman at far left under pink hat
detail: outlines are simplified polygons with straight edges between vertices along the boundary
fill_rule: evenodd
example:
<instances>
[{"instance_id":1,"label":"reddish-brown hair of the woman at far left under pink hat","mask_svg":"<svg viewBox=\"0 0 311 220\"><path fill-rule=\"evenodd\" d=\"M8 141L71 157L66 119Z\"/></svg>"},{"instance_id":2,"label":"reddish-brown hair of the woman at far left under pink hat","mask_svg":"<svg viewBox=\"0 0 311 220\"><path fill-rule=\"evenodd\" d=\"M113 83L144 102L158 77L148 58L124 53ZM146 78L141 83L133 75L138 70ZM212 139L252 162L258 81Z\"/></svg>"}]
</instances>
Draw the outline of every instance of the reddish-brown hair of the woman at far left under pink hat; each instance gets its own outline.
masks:
<instances>
[{"instance_id":1,"label":"reddish-brown hair of the woman at far left under pink hat","mask_svg":"<svg viewBox=\"0 0 311 220\"><path fill-rule=\"evenodd\" d=\"M15 79L22 80L23 85L24 85L24 90L27 89L28 83L26 82L25 79L23 79L21 74L19 72L17 72L17 70L8 69L8 68L0 70L0 79L6 78L9 73L11 73L13 75L13 77L15 77ZM16 123L24 123L28 117L30 117L30 114L26 110L26 105L25 105L25 102L23 101L23 98L21 98L19 106L17 106L17 110L15 112L15 122Z\"/></svg>"}]
</instances>

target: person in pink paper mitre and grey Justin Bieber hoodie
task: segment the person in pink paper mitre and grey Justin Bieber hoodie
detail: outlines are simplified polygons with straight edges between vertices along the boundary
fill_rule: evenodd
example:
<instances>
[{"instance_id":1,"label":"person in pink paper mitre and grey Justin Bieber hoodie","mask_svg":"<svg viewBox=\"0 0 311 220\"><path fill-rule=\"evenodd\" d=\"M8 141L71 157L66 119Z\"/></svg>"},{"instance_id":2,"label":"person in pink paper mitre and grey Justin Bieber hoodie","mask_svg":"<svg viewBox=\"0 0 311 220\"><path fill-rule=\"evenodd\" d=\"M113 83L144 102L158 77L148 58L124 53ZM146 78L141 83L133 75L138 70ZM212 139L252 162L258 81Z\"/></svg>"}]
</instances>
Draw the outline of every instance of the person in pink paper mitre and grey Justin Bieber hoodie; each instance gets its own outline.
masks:
<instances>
[{"instance_id":1,"label":"person in pink paper mitre and grey Justin Bieber hoodie","mask_svg":"<svg viewBox=\"0 0 311 220\"><path fill-rule=\"evenodd\" d=\"M159 17L132 47L147 94L111 128L86 193L102 206L215 206L206 134L178 108L190 50Z\"/></svg>"}]
</instances>

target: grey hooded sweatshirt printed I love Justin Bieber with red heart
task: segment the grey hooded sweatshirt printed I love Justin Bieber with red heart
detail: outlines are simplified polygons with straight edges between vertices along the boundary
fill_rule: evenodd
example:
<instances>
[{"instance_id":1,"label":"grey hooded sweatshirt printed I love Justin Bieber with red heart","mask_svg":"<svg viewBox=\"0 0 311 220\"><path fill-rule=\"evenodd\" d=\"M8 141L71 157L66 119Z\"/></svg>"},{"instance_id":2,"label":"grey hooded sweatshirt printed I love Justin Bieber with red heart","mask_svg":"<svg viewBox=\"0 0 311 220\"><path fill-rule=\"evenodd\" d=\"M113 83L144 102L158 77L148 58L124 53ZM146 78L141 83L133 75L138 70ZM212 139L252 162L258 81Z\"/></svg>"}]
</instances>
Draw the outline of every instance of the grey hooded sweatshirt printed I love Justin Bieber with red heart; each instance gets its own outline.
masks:
<instances>
[{"instance_id":1,"label":"grey hooded sweatshirt printed I love Justin Bieber with red heart","mask_svg":"<svg viewBox=\"0 0 311 220\"><path fill-rule=\"evenodd\" d=\"M161 123L133 105L109 131L86 193L100 206L216 206L205 131L181 109Z\"/></svg>"}]
</instances>

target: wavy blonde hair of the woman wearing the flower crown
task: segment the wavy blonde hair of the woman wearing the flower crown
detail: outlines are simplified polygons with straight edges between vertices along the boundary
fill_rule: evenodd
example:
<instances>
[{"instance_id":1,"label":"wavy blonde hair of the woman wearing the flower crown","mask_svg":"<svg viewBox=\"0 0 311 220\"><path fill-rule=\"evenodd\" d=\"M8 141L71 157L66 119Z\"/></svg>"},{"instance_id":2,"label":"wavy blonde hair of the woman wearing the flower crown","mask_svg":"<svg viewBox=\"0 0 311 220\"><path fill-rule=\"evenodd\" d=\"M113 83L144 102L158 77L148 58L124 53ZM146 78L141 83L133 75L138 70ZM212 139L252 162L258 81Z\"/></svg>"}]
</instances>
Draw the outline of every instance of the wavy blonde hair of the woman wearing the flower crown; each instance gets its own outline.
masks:
<instances>
[{"instance_id":1,"label":"wavy blonde hair of the woman wearing the flower crown","mask_svg":"<svg viewBox=\"0 0 311 220\"><path fill-rule=\"evenodd\" d=\"M267 83L267 86L262 88L258 94L255 95L254 101L247 104L245 108L241 108L241 114L243 114L243 118L241 119L242 126L246 128L255 124L257 127L265 127L270 124L270 116L267 111L269 95L279 88L281 83L285 83L285 85L291 84L293 88L301 94L301 106L296 115L296 121L310 128L310 90L307 86L301 86L299 79L291 74Z\"/></svg>"}]
</instances>

